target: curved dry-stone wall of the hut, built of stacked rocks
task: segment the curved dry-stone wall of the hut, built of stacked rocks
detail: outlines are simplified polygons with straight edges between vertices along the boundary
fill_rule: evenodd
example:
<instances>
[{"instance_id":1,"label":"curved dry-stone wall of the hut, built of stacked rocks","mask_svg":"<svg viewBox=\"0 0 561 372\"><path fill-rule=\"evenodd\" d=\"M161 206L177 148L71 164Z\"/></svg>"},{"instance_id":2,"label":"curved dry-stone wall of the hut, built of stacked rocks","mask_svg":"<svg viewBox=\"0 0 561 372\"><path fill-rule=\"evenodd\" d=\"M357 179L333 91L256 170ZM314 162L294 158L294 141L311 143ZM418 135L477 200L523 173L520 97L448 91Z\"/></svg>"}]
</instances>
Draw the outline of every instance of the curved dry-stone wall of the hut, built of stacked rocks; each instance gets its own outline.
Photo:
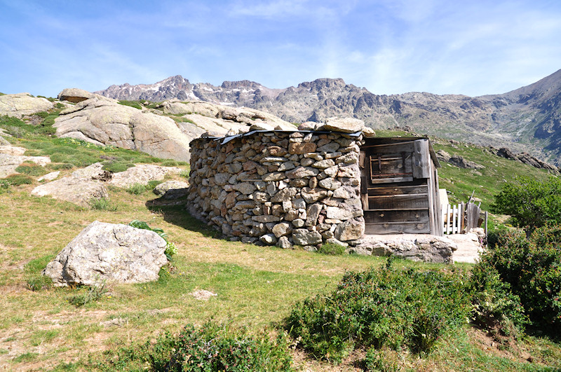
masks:
<instances>
[{"instance_id":1,"label":"curved dry-stone wall of the hut, built of stacked rocks","mask_svg":"<svg viewBox=\"0 0 561 372\"><path fill-rule=\"evenodd\" d=\"M353 245L364 233L362 136L339 132L253 132L191 142L188 209L231 240Z\"/></svg>"}]
</instances>

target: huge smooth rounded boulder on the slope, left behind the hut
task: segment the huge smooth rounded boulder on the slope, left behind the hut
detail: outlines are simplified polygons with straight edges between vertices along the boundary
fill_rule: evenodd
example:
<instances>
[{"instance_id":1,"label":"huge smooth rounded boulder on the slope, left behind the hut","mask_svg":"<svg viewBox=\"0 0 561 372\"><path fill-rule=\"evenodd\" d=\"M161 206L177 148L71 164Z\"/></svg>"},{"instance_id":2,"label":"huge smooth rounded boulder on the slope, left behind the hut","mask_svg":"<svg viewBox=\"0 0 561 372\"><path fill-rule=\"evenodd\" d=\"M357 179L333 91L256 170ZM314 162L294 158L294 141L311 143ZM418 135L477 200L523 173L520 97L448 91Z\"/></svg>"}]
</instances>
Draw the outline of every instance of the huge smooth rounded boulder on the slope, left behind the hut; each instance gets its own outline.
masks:
<instances>
[{"instance_id":1,"label":"huge smooth rounded boulder on the slope, left behind the hut","mask_svg":"<svg viewBox=\"0 0 561 372\"><path fill-rule=\"evenodd\" d=\"M149 153L158 158L189 160L189 142L174 120L114 99L96 96L64 109L55 119L58 137Z\"/></svg>"}]
</instances>

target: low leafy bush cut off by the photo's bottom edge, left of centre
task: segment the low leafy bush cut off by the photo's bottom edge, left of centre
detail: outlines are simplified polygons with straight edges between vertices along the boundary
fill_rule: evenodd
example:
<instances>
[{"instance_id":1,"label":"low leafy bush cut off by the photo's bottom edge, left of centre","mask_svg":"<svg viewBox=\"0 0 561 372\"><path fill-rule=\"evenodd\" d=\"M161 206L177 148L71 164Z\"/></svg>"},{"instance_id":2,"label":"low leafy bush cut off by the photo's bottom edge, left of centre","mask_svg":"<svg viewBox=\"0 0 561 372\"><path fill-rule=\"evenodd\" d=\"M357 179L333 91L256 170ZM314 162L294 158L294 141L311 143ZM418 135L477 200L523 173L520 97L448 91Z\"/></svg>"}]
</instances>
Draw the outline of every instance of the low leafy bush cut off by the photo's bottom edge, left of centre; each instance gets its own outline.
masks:
<instances>
[{"instance_id":1,"label":"low leafy bush cut off by the photo's bottom edge, left of centre","mask_svg":"<svg viewBox=\"0 0 561 372\"><path fill-rule=\"evenodd\" d=\"M155 343L107 352L104 371L292 371L283 333L271 340L266 333L252 335L229 324L191 324L177 335L164 333ZM114 354L114 355L112 355Z\"/></svg>"}]
</instances>

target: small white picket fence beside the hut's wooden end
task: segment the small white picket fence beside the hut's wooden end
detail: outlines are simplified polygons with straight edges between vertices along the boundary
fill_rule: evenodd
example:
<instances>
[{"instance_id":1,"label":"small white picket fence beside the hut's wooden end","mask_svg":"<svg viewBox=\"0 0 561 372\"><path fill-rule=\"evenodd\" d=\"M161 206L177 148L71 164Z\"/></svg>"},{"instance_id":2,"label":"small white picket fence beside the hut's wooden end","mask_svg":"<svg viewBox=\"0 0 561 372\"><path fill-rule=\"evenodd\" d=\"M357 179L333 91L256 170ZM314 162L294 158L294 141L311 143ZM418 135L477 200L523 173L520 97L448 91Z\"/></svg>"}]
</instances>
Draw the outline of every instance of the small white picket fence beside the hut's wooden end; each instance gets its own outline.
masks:
<instances>
[{"instance_id":1,"label":"small white picket fence beside the hut's wooden end","mask_svg":"<svg viewBox=\"0 0 561 372\"><path fill-rule=\"evenodd\" d=\"M485 223L487 234L487 212L482 214L480 206L473 202L459 205L442 205L442 222L445 234L462 234Z\"/></svg>"}]
</instances>

